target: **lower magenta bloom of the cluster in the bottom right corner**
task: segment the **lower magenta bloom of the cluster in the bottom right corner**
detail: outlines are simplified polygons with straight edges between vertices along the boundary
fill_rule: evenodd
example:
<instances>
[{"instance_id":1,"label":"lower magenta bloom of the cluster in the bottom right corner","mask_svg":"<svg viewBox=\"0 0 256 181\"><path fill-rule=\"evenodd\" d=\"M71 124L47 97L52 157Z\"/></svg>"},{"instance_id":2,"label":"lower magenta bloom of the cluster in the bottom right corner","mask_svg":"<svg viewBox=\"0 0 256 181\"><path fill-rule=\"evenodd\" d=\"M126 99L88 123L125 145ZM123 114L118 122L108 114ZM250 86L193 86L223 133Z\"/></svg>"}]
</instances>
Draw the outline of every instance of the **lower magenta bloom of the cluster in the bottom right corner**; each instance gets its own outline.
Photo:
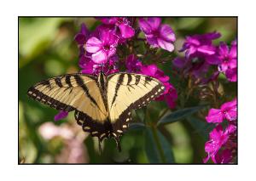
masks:
<instances>
[{"instance_id":1,"label":"lower magenta bloom of the cluster in the bottom right corner","mask_svg":"<svg viewBox=\"0 0 256 181\"><path fill-rule=\"evenodd\" d=\"M218 163L215 158L215 156L218 154L218 150L220 150L220 148L227 143L230 134L234 133L235 131L236 126L232 124L226 127L225 131L221 125L218 125L212 130L210 133L210 140L205 144L205 150L208 156L204 159L204 163L206 163L210 157L214 163Z\"/></svg>"}]
</instances>

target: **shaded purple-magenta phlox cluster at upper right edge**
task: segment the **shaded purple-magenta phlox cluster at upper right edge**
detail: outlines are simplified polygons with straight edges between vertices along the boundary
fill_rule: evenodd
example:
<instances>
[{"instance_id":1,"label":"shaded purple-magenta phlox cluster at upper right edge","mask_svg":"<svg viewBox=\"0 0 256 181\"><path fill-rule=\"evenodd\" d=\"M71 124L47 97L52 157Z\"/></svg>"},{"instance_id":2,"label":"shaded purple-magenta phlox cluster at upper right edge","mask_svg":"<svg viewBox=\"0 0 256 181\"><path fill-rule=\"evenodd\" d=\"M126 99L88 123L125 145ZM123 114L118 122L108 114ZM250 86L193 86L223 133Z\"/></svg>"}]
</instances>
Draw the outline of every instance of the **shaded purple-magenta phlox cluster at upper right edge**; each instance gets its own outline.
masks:
<instances>
[{"instance_id":1,"label":"shaded purple-magenta phlox cluster at upper right edge","mask_svg":"<svg viewBox=\"0 0 256 181\"><path fill-rule=\"evenodd\" d=\"M200 79L202 83L216 79L220 72L224 73L230 82L236 82L236 41L231 42L230 49L224 42L220 42L218 46L213 45L212 41L219 37L221 34L218 32L186 37L180 50L185 56L177 57L172 64L177 69L183 70L185 74ZM211 66L216 69L210 77L207 77Z\"/></svg>"}]
</instances>

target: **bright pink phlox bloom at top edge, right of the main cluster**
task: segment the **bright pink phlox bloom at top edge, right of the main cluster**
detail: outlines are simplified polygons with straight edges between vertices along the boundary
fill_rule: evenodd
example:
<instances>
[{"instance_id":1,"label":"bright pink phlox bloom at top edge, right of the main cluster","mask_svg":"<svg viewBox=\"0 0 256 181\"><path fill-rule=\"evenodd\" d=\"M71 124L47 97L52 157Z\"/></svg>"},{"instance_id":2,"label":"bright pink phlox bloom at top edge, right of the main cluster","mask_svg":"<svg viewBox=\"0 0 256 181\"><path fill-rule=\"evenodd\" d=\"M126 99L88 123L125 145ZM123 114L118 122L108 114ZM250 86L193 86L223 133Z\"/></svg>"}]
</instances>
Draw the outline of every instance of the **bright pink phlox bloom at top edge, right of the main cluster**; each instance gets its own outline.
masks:
<instances>
[{"instance_id":1,"label":"bright pink phlox bloom at top edge, right of the main cluster","mask_svg":"<svg viewBox=\"0 0 256 181\"><path fill-rule=\"evenodd\" d=\"M145 33L148 43L154 48L163 48L172 52L174 49L173 42L176 40L174 32L169 25L161 25L160 23L160 18L139 19L140 28Z\"/></svg>"}]
</instances>

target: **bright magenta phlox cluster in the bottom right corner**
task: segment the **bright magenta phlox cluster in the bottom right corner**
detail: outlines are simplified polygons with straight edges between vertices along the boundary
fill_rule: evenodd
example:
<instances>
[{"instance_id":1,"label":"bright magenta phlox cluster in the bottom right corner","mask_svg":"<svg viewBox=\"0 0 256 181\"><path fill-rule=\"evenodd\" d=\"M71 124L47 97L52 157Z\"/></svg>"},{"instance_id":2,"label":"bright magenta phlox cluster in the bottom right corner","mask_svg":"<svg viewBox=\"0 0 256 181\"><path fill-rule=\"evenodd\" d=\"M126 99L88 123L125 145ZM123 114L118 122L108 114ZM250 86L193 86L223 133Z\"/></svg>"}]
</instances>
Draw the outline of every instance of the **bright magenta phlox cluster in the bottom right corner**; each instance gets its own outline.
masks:
<instances>
[{"instance_id":1,"label":"bright magenta phlox cluster in the bottom right corner","mask_svg":"<svg viewBox=\"0 0 256 181\"><path fill-rule=\"evenodd\" d=\"M231 163L237 149L237 100L224 103L220 109L209 110L206 119L207 122L216 123L217 126L212 130L209 135L210 140L205 144L208 156L204 162L212 158L214 163ZM221 123L227 123L228 126L224 129Z\"/></svg>"}]
</instances>

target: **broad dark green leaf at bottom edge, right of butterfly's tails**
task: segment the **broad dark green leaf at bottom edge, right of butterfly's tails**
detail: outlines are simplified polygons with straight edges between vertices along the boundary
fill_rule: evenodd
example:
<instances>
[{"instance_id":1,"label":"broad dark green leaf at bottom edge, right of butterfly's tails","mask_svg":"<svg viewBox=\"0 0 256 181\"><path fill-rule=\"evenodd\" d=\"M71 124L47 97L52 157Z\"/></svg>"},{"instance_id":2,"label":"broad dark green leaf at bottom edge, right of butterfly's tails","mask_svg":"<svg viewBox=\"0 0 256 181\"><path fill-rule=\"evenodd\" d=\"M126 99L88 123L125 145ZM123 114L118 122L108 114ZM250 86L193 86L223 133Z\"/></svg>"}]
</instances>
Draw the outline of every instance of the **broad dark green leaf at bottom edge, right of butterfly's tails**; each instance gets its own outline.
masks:
<instances>
[{"instance_id":1,"label":"broad dark green leaf at bottom edge, right of butterfly's tails","mask_svg":"<svg viewBox=\"0 0 256 181\"><path fill-rule=\"evenodd\" d=\"M145 151L150 163L173 163L172 146L158 130L145 131Z\"/></svg>"}]
</instances>

